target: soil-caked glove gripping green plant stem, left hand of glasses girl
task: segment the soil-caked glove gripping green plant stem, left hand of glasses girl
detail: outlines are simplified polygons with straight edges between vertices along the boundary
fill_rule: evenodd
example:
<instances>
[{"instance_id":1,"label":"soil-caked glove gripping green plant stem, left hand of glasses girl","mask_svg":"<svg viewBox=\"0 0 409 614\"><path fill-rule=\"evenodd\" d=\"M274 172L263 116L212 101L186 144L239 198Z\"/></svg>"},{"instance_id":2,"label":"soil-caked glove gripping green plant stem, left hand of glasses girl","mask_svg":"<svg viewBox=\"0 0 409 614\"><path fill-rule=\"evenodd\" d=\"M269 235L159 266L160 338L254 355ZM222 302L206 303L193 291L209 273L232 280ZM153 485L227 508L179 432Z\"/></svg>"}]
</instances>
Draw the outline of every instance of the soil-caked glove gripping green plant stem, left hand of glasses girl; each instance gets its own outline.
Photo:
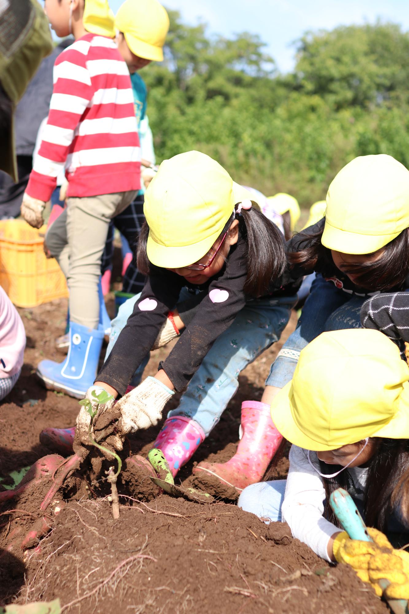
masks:
<instances>
[{"instance_id":1,"label":"soil-caked glove gripping green plant stem, left hand of glasses girl","mask_svg":"<svg viewBox=\"0 0 409 614\"><path fill-rule=\"evenodd\" d=\"M90 400L92 409L96 411L92 424L92 435L95 441L98 441L100 445L103 445L107 449L122 450L123 437L120 437L117 433L116 423L120 418L120 413L117 411L114 405L115 400L111 398L107 403L97 403L92 392L96 395L101 392L106 392L101 386L91 386L85 394L85 398ZM84 456L84 446L92 446L88 435L88 427L90 426L91 416L88 413L87 408L82 405L80 412L77 416L76 434L74 437L74 452ZM101 438L102 435L102 438ZM88 452L89 450L87 450ZM111 460L111 454L104 455L107 459Z\"/></svg>"}]
</instances>

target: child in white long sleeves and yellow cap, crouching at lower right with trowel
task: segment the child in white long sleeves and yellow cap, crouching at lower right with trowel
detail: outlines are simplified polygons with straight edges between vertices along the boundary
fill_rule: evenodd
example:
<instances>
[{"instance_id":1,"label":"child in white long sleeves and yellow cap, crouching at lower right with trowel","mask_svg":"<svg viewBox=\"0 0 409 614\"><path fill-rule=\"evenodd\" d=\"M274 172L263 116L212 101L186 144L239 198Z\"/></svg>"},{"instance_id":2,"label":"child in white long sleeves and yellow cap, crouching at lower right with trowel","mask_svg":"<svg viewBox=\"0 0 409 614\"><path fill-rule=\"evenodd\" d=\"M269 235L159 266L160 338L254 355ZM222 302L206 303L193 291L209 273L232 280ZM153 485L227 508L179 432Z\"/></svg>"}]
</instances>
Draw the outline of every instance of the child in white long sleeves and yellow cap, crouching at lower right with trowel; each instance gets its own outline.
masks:
<instances>
[{"instance_id":1,"label":"child in white long sleeves and yellow cap, crouching at lower right with trowel","mask_svg":"<svg viewBox=\"0 0 409 614\"><path fill-rule=\"evenodd\" d=\"M238 505L265 522L288 523L327 561L346 562L347 536L329 507L339 487L369 527L402 532L391 498L409 468L408 379L408 365L382 333L322 333L271 405L276 428L292 443L287 480L252 484Z\"/></svg>"}]
</instances>

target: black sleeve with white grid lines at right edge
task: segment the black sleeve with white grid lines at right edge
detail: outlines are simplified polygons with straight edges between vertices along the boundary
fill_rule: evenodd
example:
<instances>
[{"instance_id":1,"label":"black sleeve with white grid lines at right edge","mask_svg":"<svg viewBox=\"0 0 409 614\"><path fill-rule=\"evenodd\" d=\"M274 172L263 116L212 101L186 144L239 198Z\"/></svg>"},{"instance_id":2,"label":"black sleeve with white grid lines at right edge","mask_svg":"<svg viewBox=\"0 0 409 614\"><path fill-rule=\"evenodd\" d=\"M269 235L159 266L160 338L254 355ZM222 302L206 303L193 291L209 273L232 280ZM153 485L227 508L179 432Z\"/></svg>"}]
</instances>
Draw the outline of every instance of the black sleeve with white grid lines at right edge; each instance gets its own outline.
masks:
<instances>
[{"instance_id":1,"label":"black sleeve with white grid lines at right edge","mask_svg":"<svg viewBox=\"0 0 409 614\"><path fill-rule=\"evenodd\" d=\"M360 309L364 328L380 330L399 346L405 355L409 341L409 292L381 293L365 301Z\"/></svg>"}]
</instances>

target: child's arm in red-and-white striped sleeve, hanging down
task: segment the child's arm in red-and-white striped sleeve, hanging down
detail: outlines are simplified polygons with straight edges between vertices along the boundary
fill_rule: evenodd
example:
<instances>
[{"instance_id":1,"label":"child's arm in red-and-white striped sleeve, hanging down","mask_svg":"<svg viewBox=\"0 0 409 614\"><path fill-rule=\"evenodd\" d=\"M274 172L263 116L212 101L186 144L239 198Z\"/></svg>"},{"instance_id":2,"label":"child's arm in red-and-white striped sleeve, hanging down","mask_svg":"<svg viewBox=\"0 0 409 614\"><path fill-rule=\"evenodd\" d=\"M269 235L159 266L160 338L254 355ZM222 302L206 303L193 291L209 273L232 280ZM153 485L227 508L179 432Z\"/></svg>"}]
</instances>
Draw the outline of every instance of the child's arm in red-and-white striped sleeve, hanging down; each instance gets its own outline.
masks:
<instances>
[{"instance_id":1,"label":"child's arm in red-and-white striped sleeve, hanging down","mask_svg":"<svg viewBox=\"0 0 409 614\"><path fill-rule=\"evenodd\" d=\"M56 187L74 131L94 93L87 68L88 45L86 41L76 41L55 61L49 117L25 192L44 203Z\"/></svg>"}]
</instances>

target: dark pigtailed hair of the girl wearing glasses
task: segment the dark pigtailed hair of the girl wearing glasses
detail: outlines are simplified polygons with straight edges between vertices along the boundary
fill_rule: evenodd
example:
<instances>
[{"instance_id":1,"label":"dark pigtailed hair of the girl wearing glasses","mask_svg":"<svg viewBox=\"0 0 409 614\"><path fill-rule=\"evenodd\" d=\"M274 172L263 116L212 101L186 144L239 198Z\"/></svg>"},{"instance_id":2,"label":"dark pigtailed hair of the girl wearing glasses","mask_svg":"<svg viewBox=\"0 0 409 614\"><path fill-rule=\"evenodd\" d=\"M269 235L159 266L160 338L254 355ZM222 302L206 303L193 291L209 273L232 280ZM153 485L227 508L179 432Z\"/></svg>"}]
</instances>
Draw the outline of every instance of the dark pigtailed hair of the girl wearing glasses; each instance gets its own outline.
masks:
<instances>
[{"instance_id":1,"label":"dark pigtailed hair of the girl wearing glasses","mask_svg":"<svg viewBox=\"0 0 409 614\"><path fill-rule=\"evenodd\" d=\"M261 297L268 293L271 281L278 278L286 268L284 240L276 225L254 207L242 209L240 215L232 214L219 237L228 230L235 215L238 217L240 233L247 246L247 277L244 282L244 292L252 297ZM136 264L144 275L149 275L150 262L146 253L148 235L149 226L144 222L139 233L136 252Z\"/></svg>"}]
</instances>

